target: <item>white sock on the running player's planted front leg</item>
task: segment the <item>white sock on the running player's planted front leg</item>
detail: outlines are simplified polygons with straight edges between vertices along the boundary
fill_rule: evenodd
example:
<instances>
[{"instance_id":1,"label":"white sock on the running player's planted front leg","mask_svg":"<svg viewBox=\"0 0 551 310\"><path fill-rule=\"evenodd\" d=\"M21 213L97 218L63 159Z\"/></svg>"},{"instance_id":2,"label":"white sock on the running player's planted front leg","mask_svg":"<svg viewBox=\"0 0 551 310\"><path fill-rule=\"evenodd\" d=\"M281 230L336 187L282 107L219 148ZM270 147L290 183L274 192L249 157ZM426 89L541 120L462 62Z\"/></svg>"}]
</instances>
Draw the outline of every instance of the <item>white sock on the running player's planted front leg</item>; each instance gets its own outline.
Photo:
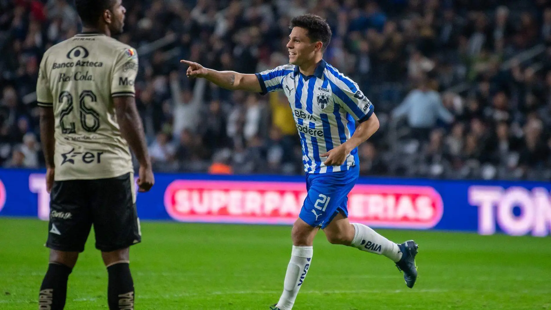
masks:
<instances>
[{"instance_id":1,"label":"white sock on the running player's planted front leg","mask_svg":"<svg viewBox=\"0 0 551 310\"><path fill-rule=\"evenodd\" d=\"M304 281L310 263L314 248L312 247L295 247L291 252L291 260L287 266L285 273L285 282L283 283L283 293L279 298L277 307L281 310L291 310L295 303L296 295L298 295L302 281Z\"/></svg>"}]
</instances>

